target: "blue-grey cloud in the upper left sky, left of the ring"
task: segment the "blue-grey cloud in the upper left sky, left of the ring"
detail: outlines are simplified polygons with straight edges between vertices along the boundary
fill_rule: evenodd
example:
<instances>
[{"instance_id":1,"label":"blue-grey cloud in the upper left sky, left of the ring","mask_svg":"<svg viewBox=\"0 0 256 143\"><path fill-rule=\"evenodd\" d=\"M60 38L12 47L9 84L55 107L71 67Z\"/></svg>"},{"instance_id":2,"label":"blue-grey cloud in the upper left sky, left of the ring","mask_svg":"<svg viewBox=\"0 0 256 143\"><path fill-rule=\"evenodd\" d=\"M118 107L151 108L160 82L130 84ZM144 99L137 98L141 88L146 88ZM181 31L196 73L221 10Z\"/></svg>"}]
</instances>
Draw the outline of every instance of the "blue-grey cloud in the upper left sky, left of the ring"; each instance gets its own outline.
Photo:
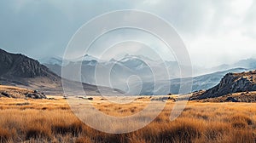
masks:
<instances>
[{"instance_id":1,"label":"blue-grey cloud in the upper left sky, left of the ring","mask_svg":"<svg viewBox=\"0 0 256 143\"><path fill-rule=\"evenodd\" d=\"M36 59L61 56L80 26L120 6L109 7L105 1L0 1L0 47Z\"/></svg>"}]
</instances>

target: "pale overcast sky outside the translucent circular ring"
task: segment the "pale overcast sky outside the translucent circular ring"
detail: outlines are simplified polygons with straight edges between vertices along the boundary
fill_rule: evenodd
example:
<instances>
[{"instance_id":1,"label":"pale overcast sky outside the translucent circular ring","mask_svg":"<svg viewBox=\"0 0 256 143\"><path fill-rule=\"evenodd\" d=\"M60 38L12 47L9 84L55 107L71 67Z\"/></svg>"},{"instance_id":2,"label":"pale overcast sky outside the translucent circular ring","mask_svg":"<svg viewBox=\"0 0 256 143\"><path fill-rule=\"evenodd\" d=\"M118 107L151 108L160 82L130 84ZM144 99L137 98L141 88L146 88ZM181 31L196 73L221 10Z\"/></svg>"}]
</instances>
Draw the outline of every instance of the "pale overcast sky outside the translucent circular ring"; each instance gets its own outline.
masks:
<instances>
[{"instance_id":1,"label":"pale overcast sky outside the translucent circular ring","mask_svg":"<svg viewBox=\"0 0 256 143\"><path fill-rule=\"evenodd\" d=\"M0 48L35 59L61 56L85 22L120 9L148 11L171 23L194 65L256 58L253 0L1 0Z\"/></svg>"}]
</instances>

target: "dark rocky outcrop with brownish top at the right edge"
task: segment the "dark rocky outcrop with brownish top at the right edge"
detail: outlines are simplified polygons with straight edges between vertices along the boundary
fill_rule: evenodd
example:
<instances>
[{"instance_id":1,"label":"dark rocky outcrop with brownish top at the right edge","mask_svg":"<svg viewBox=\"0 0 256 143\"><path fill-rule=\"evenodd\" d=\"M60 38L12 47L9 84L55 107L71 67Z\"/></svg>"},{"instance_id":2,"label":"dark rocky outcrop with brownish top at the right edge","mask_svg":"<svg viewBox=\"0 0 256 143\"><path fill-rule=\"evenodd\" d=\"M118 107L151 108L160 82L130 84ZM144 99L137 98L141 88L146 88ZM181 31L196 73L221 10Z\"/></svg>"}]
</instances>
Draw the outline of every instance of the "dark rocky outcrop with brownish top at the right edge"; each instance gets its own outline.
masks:
<instances>
[{"instance_id":1,"label":"dark rocky outcrop with brownish top at the right edge","mask_svg":"<svg viewBox=\"0 0 256 143\"><path fill-rule=\"evenodd\" d=\"M191 100L217 98L227 94L256 91L256 71L228 73L212 89L201 94L194 94Z\"/></svg>"}]
</instances>

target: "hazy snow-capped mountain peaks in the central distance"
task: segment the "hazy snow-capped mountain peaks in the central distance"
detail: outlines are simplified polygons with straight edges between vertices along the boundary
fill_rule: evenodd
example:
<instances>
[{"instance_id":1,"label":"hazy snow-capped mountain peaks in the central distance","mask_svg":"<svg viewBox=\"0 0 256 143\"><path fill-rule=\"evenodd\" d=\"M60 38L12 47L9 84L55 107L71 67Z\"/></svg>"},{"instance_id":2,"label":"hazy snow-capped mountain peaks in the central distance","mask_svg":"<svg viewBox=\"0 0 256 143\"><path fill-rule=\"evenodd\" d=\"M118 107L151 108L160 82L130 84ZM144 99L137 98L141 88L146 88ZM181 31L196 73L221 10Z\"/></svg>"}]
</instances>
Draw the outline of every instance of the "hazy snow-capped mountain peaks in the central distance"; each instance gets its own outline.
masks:
<instances>
[{"instance_id":1,"label":"hazy snow-capped mountain peaks in the central distance","mask_svg":"<svg viewBox=\"0 0 256 143\"><path fill-rule=\"evenodd\" d=\"M61 65L63 62L61 62L60 59L51 59L50 62L45 62L47 60L40 61L45 66L49 67L52 72L55 72L59 76L61 76L62 66L66 69L74 69L81 66L82 82L109 86L108 81L105 83L102 82L105 80L105 78L108 78L114 88L124 91L129 89L127 79L133 75L140 77L139 80L143 82L152 81L154 79L164 80L179 76L179 68L176 61L163 62L151 60L143 55L126 54L120 60L111 59L104 61L97 60L97 58L86 54L84 55L84 58L79 58L79 60L70 60L68 64L65 65ZM65 60L65 62L67 62L67 60ZM152 72L152 69L154 72ZM169 77L167 77L167 72L170 74ZM102 77L104 78L102 79L101 75L109 76ZM66 75L65 78L73 80L73 73L71 73L71 75Z\"/></svg>"}]
</instances>

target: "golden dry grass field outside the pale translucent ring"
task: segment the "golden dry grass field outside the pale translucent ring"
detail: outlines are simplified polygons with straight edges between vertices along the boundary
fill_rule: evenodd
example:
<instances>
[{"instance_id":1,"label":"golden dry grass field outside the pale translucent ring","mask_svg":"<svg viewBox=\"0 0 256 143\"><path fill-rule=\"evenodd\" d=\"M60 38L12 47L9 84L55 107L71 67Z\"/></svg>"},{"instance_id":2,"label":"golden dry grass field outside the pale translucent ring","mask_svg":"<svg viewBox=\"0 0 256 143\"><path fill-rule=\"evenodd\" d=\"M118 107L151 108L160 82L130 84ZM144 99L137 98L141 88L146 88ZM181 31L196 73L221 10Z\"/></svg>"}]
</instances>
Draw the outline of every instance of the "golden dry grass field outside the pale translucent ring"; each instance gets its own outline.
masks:
<instances>
[{"instance_id":1,"label":"golden dry grass field outside the pale translucent ring","mask_svg":"<svg viewBox=\"0 0 256 143\"><path fill-rule=\"evenodd\" d=\"M152 123L127 134L107 134L91 129L73 112L67 100L0 98L0 142L255 142L255 103L213 103L189 101L183 113L170 121L173 100ZM84 100L84 99L80 99ZM91 104L113 116L127 116L143 110L148 96L131 104L111 104L93 97ZM132 123L132 121L131 121ZM118 128L119 124L113 124ZM127 125L126 125L127 126Z\"/></svg>"}]
</instances>

